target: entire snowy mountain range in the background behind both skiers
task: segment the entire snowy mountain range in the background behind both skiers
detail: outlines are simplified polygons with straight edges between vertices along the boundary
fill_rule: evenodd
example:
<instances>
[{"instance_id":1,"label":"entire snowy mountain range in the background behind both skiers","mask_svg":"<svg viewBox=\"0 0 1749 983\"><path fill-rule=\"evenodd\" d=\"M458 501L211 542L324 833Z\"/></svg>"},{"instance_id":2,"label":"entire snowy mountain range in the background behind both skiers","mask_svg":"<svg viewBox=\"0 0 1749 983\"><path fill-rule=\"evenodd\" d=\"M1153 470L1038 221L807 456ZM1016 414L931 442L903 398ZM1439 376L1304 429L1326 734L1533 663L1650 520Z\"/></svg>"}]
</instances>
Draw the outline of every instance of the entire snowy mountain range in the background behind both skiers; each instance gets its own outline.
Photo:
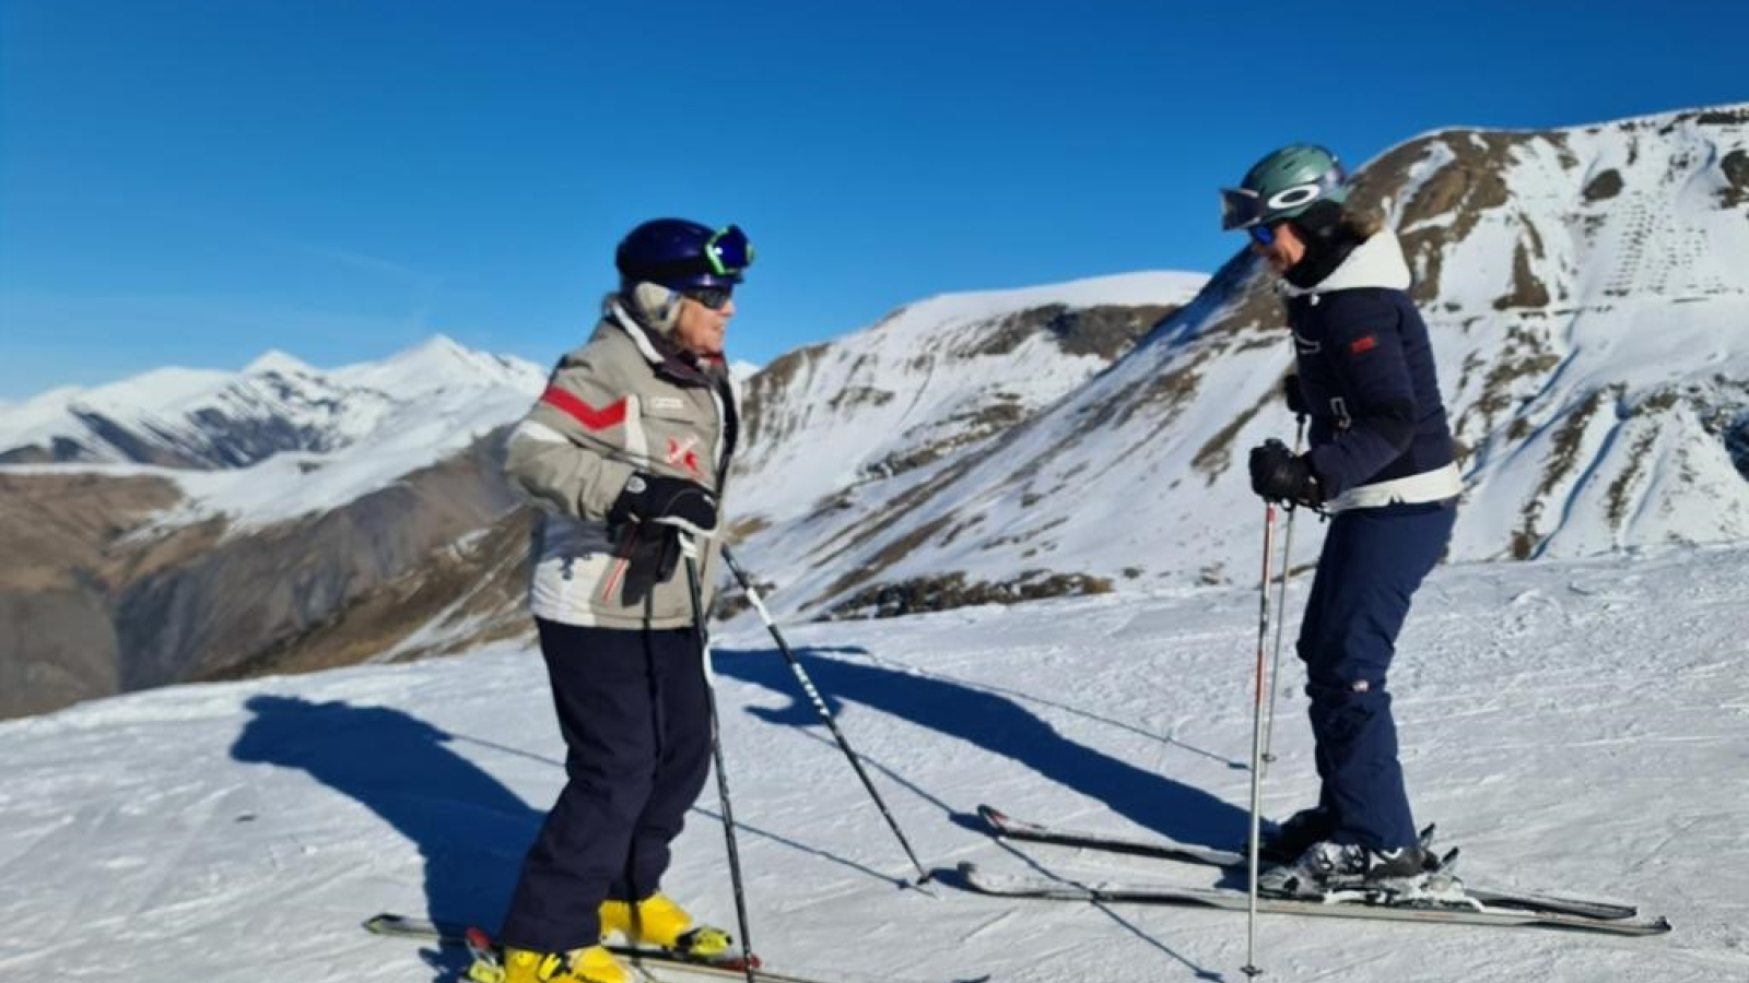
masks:
<instances>
[{"instance_id":1,"label":"entire snowy mountain range in the background behind both skiers","mask_svg":"<svg viewBox=\"0 0 1749 983\"><path fill-rule=\"evenodd\" d=\"M1749 107L1436 131L1352 201L1438 348L1452 560L1749 539ZM1251 582L1242 460L1293 436L1289 364L1242 250L909 304L745 381L742 558L785 617ZM525 631L495 455L542 383L439 338L0 406L0 715Z\"/></svg>"}]
</instances>

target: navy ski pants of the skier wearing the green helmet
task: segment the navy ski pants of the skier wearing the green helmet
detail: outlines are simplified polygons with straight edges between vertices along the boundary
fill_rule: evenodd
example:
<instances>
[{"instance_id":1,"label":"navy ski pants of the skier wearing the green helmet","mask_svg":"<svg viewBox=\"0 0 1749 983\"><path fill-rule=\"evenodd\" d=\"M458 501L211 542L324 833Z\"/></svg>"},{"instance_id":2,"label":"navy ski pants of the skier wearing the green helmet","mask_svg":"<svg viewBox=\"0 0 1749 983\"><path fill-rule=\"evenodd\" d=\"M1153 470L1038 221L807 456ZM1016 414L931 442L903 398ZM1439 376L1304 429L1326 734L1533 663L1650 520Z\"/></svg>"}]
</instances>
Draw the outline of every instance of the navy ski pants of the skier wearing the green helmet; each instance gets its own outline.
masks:
<instances>
[{"instance_id":1,"label":"navy ski pants of the skier wearing the green helmet","mask_svg":"<svg viewBox=\"0 0 1749 983\"><path fill-rule=\"evenodd\" d=\"M1390 850L1417 841L1385 673L1410 598L1455 521L1455 502L1431 502L1350 509L1329 523L1300 658L1310 680L1319 805L1334 820L1336 843Z\"/></svg>"}]
</instances>

